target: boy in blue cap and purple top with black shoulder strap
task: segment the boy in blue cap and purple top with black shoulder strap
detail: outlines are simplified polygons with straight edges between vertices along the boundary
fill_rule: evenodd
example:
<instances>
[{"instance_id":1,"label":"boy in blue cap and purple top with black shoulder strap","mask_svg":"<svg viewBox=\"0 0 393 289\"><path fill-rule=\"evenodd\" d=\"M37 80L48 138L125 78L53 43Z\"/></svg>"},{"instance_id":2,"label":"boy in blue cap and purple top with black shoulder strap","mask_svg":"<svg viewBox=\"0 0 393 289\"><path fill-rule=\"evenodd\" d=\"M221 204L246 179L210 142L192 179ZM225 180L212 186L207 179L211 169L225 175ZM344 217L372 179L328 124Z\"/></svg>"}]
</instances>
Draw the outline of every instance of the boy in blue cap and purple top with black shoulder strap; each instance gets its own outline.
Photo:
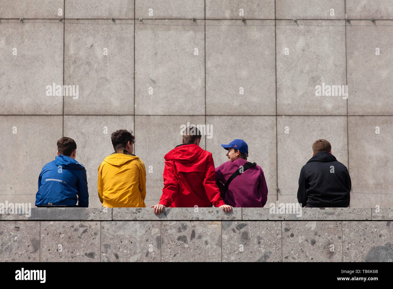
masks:
<instances>
[{"instance_id":1,"label":"boy in blue cap and purple top with black shoulder strap","mask_svg":"<svg viewBox=\"0 0 393 289\"><path fill-rule=\"evenodd\" d=\"M268 188L260 166L247 161L248 145L235 139L221 145L228 151L228 162L216 168L215 180L225 204L242 208L261 208L266 204Z\"/></svg>"}]
</instances>

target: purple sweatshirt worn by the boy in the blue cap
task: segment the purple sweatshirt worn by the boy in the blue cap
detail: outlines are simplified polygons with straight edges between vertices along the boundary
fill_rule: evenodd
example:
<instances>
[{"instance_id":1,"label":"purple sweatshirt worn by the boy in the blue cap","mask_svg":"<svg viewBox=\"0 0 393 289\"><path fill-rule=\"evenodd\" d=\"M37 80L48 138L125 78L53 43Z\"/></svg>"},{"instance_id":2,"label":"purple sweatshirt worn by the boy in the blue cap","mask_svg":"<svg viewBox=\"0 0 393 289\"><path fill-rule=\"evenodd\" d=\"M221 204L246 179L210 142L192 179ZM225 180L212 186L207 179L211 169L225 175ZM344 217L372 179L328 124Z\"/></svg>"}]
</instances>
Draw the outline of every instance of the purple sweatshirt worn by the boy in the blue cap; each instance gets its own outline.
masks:
<instances>
[{"instance_id":1,"label":"purple sweatshirt worn by the boy in the blue cap","mask_svg":"<svg viewBox=\"0 0 393 289\"><path fill-rule=\"evenodd\" d=\"M231 175L246 163L247 161L242 158L238 158L233 162L224 162L224 164L216 168L215 180L218 184L222 182L225 185ZM219 185L219 188L222 191L223 186ZM263 170L260 166L247 169L232 180L225 196L224 193L222 193L221 197L224 199L225 204L233 207L263 207L268 199L268 188Z\"/></svg>"}]
</instances>

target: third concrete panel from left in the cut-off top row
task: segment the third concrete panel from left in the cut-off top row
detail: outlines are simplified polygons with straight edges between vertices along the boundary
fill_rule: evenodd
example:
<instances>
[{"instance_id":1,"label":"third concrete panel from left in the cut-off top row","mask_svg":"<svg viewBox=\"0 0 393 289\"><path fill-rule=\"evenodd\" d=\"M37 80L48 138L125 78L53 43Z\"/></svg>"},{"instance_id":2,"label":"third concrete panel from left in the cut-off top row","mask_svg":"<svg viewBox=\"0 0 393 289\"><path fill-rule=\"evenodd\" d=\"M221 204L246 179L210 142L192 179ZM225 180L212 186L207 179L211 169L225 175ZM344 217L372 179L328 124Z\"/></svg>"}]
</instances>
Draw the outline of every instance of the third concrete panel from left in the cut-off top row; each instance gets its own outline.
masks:
<instances>
[{"instance_id":1,"label":"third concrete panel from left in the cut-off top row","mask_svg":"<svg viewBox=\"0 0 393 289\"><path fill-rule=\"evenodd\" d=\"M204 0L135 0L135 18L204 18Z\"/></svg>"}]
</instances>

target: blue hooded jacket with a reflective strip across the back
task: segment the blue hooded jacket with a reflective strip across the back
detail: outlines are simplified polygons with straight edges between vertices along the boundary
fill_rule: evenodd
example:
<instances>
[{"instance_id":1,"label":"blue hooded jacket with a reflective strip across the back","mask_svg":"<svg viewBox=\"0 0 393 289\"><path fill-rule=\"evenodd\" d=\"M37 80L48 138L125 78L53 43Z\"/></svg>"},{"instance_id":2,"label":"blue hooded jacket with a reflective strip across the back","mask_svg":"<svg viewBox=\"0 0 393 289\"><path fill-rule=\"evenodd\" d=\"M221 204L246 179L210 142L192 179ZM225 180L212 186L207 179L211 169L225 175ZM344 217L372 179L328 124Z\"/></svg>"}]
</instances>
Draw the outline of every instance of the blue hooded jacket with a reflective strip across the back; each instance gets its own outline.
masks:
<instances>
[{"instance_id":1,"label":"blue hooded jacket with a reflective strip across the back","mask_svg":"<svg viewBox=\"0 0 393 289\"><path fill-rule=\"evenodd\" d=\"M35 205L89 206L86 169L69 156L56 156L42 168Z\"/></svg>"}]
</instances>

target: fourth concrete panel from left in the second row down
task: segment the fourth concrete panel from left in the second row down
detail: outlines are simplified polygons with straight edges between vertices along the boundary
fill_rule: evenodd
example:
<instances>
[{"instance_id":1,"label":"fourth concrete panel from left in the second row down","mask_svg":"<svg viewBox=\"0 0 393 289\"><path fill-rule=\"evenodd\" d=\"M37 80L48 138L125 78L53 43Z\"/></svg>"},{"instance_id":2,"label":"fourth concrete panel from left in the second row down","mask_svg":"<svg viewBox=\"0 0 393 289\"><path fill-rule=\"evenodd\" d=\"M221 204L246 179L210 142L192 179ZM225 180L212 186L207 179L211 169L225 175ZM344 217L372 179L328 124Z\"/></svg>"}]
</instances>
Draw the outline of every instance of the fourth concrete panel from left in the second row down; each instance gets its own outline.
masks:
<instances>
[{"instance_id":1,"label":"fourth concrete panel from left in the second row down","mask_svg":"<svg viewBox=\"0 0 393 289\"><path fill-rule=\"evenodd\" d=\"M274 21L206 21L206 114L275 115Z\"/></svg>"}]
</instances>

